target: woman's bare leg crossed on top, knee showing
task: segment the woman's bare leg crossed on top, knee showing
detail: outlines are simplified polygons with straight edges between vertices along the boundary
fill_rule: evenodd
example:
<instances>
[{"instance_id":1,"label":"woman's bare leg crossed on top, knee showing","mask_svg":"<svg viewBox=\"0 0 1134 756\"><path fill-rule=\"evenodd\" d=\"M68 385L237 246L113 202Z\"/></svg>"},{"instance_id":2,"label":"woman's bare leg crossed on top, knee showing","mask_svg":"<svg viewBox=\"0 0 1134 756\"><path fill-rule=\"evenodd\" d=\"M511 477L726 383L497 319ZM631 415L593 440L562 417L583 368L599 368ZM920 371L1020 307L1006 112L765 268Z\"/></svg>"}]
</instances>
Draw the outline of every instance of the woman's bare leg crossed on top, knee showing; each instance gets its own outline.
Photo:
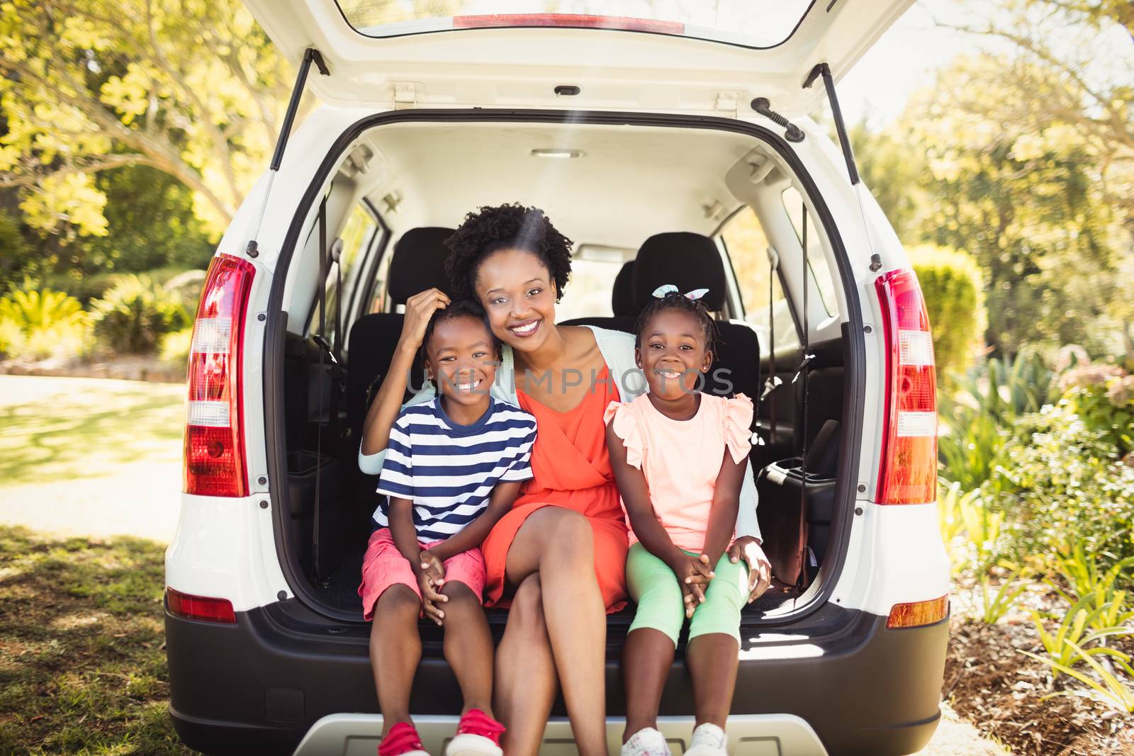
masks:
<instances>
[{"instance_id":1,"label":"woman's bare leg crossed on top, knee showing","mask_svg":"<svg viewBox=\"0 0 1134 756\"><path fill-rule=\"evenodd\" d=\"M511 583L539 572L543 619L575 745L582 756L606 756L607 615L594 576L591 524L559 507L533 512L516 532L506 572Z\"/></svg>"}]
</instances>

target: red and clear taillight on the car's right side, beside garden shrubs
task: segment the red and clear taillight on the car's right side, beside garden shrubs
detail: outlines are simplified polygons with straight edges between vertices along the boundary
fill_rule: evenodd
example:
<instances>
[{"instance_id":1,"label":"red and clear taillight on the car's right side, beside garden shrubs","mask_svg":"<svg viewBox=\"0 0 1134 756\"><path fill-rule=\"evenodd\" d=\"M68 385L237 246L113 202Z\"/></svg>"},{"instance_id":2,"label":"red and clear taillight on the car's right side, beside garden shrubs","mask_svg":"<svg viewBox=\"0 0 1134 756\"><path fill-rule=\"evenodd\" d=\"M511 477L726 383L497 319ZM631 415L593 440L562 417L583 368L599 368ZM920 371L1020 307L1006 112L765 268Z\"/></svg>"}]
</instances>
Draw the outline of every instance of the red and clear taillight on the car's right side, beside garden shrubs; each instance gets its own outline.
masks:
<instances>
[{"instance_id":1,"label":"red and clear taillight on the car's right side, beside garden shrubs","mask_svg":"<svg viewBox=\"0 0 1134 756\"><path fill-rule=\"evenodd\" d=\"M874 282L886 335L886 404L878 472L880 504L937 500L937 369L917 277L890 271Z\"/></svg>"}]
</instances>

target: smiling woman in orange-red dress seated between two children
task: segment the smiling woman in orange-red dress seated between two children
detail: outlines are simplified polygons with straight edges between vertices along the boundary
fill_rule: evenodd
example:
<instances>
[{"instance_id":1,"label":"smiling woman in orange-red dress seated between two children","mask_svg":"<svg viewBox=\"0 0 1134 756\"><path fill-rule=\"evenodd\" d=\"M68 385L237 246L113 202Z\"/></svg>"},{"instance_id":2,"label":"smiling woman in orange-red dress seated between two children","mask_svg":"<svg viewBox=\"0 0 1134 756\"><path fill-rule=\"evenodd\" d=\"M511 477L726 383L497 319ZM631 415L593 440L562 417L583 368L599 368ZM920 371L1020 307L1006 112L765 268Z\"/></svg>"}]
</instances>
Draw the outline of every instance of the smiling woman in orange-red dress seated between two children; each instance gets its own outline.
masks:
<instances>
[{"instance_id":1,"label":"smiling woman in orange-red dress seated between two children","mask_svg":"<svg viewBox=\"0 0 1134 756\"><path fill-rule=\"evenodd\" d=\"M570 275L570 240L542 211L521 205L469 213L447 241L454 294L475 297L505 345L492 392L536 417L533 481L482 546L485 603L508 605L497 652L496 714L508 727L505 753L535 754L562 686L579 754L607 753L604 611L626 597L626 525L606 445L603 411L644 390L634 337L556 325L555 305ZM399 411L425 324L449 298L437 289L406 303L390 371L366 416L359 466L376 473ZM411 401L433 396L432 387ZM745 476L738 534L755 534L755 492ZM753 566L750 585L768 585L755 538L737 538L733 559ZM548 596L547 602L543 596ZM551 600L553 598L553 600Z\"/></svg>"}]
</instances>

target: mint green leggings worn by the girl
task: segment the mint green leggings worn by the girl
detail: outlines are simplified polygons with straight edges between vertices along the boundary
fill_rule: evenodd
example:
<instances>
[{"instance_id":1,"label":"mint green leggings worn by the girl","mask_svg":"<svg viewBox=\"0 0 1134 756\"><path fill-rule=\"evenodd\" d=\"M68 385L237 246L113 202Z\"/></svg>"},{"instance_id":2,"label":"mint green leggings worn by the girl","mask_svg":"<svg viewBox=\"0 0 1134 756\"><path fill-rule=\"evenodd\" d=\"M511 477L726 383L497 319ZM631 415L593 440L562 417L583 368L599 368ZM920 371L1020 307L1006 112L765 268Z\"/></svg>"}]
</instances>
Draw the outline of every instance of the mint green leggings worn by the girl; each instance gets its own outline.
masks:
<instances>
[{"instance_id":1,"label":"mint green leggings worn by the girl","mask_svg":"<svg viewBox=\"0 0 1134 756\"><path fill-rule=\"evenodd\" d=\"M693 554L691 551L685 553ZM734 564L725 552L713 572L716 577L709 581L705 600L689 620L689 640L699 635L723 632L739 643L741 610L748 598L748 568L744 560ZM668 635L676 646L685 622L685 602L674 570L641 543L635 543L626 557L626 583L637 604L631 632L652 628Z\"/></svg>"}]
</instances>

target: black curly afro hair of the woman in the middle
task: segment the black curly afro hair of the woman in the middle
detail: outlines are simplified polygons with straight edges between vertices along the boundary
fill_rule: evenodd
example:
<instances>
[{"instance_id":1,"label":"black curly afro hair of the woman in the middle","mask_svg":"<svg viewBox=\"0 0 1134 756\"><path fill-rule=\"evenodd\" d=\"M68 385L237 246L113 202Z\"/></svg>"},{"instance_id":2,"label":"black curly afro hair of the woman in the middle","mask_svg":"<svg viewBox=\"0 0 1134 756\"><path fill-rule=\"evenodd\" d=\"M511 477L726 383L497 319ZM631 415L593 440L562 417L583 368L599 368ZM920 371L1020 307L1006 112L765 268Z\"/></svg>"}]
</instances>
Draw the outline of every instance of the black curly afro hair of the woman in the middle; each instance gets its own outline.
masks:
<instances>
[{"instance_id":1,"label":"black curly afro hair of the woman in the middle","mask_svg":"<svg viewBox=\"0 0 1134 756\"><path fill-rule=\"evenodd\" d=\"M570 278L572 240L557 231L539 207L519 203L481 207L465 215L445 245L449 247L445 272L457 297L476 298L481 263L500 249L524 249L539 257L556 284L556 301Z\"/></svg>"}]
</instances>

